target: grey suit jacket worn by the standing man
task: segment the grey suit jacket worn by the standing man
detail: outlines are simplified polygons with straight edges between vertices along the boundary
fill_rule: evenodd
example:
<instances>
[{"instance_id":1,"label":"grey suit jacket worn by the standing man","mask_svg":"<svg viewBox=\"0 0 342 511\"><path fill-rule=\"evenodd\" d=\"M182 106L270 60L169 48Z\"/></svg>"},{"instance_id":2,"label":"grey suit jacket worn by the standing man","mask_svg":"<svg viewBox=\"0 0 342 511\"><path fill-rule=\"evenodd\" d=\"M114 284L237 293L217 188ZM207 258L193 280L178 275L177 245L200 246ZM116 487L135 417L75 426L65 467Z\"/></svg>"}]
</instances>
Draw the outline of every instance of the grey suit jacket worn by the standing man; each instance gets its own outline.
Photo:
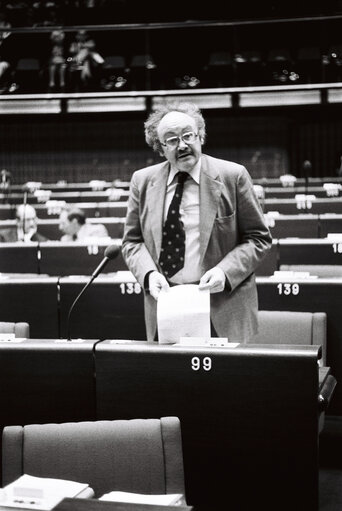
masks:
<instances>
[{"instance_id":1,"label":"grey suit jacket worn by the standing man","mask_svg":"<svg viewBox=\"0 0 342 511\"><path fill-rule=\"evenodd\" d=\"M169 163L136 171L122 242L128 268L142 287L158 264ZM200 265L204 274L219 266L227 285L210 295L211 321L220 337L247 340L257 332L258 297L254 271L270 249L271 234L264 221L251 177L245 167L202 155L200 173ZM157 327L157 302L145 292L147 339Z\"/></svg>"}]
</instances>

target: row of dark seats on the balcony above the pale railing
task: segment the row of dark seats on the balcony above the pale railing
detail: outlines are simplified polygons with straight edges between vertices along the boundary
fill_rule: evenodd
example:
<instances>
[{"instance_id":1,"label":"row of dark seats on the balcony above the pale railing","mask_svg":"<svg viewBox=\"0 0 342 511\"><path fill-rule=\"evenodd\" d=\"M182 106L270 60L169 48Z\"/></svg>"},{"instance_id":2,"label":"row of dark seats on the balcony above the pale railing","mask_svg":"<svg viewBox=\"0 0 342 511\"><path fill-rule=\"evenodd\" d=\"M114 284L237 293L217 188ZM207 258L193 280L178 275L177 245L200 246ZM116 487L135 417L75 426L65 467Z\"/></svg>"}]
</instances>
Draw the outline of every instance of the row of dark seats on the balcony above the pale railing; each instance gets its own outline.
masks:
<instances>
[{"instance_id":1,"label":"row of dark seats on the balcony above the pale railing","mask_svg":"<svg viewBox=\"0 0 342 511\"><path fill-rule=\"evenodd\" d=\"M198 60L198 59L197 59ZM295 54L286 48L267 52L227 49L212 51L206 61L193 63L177 59L168 67L151 54L104 56L100 79L95 90L194 89L210 87L256 86L339 82L342 79L342 44L331 45L326 51L317 47L301 47ZM13 79L22 82L19 91L39 88L37 80L43 71L39 56L18 59ZM28 87L25 87L26 85ZM43 83L40 85L43 89ZM34 91L34 89L33 89ZM15 92L15 91L13 91Z\"/></svg>"}]
</instances>

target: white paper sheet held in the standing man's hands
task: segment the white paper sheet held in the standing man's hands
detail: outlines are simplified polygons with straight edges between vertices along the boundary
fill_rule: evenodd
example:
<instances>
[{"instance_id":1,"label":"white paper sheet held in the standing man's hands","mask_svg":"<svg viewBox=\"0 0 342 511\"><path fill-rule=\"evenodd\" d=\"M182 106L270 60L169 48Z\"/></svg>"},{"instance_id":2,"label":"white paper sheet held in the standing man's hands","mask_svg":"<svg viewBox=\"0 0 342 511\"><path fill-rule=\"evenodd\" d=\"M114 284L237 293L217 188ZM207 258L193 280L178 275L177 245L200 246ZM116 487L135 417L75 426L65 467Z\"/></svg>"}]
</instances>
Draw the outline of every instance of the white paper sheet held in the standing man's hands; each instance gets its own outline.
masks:
<instances>
[{"instance_id":1,"label":"white paper sheet held in the standing man's hands","mask_svg":"<svg viewBox=\"0 0 342 511\"><path fill-rule=\"evenodd\" d=\"M160 344L179 342L181 337L210 337L210 293L196 284L162 290L157 302Z\"/></svg>"}]
</instances>

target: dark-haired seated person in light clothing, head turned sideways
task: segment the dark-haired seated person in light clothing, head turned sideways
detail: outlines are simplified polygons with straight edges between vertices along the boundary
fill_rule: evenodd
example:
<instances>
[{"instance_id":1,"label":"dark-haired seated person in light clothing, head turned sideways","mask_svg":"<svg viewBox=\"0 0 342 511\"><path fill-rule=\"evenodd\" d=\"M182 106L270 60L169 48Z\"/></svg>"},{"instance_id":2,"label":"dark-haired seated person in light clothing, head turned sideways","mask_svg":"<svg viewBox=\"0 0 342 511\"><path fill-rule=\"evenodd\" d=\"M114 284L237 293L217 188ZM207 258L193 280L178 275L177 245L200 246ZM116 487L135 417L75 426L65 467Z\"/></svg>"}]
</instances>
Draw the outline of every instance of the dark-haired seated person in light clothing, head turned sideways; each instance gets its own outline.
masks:
<instances>
[{"instance_id":1,"label":"dark-haired seated person in light clothing, head turned sideways","mask_svg":"<svg viewBox=\"0 0 342 511\"><path fill-rule=\"evenodd\" d=\"M59 216L59 230L64 232L61 241L79 241L86 238L108 238L107 229L102 224L86 221L83 209L63 209Z\"/></svg>"}]
</instances>

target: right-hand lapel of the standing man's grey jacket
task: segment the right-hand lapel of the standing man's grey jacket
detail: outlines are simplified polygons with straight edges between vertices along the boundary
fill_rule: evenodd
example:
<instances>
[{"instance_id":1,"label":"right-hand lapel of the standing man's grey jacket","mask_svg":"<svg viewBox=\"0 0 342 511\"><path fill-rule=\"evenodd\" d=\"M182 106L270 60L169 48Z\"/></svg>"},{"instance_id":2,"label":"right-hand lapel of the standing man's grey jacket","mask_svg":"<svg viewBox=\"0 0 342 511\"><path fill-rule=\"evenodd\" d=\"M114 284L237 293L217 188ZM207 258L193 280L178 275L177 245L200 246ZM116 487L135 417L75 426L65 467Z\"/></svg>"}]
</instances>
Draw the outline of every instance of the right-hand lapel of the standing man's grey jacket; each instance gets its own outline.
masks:
<instances>
[{"instance_id":1,"label":"right-hand lapel of the standing man's grey jacket","mask_svg":"<svg viewBox=\"0 0 342 511\"><path fill-rule=\"evenodd\" d=\"M200 176L200 255L201 263L208 247L209 239L217 215L223 184L219 174L202 156Z\"/></svg>"}]
</instances>

